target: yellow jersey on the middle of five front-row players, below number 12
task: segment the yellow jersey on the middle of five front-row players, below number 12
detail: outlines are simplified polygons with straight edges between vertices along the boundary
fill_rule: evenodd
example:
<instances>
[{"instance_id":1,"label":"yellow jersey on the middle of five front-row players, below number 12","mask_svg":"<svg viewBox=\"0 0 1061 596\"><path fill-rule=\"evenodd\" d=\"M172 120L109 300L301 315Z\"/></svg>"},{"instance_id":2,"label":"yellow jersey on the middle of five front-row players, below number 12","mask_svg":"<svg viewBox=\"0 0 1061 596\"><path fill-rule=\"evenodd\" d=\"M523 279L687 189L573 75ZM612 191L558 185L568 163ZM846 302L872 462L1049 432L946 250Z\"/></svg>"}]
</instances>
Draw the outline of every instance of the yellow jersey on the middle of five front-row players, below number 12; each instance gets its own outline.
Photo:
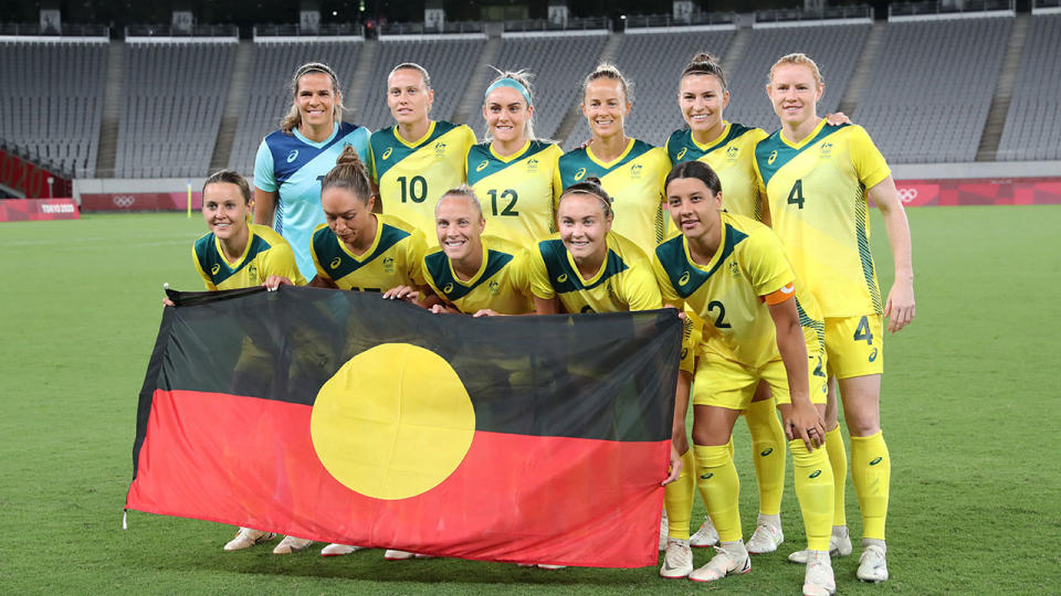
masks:
<instances>
[{"instance_id":1,"label":"yellow jersey on the middle of five front-row players, below number 12","mask_svg":"<svg viewBox=\"0 0 1061 596\"><path fill-rule=\"evenodd\" d=\"M489 308L502 315L534 312L527 287L525 249L514 242L482 236L483 265L468 281L453 274L453 266L441 248L423 259L423 277L431 289L461 312L474 315Z\"/></svg>"}]
</instances>

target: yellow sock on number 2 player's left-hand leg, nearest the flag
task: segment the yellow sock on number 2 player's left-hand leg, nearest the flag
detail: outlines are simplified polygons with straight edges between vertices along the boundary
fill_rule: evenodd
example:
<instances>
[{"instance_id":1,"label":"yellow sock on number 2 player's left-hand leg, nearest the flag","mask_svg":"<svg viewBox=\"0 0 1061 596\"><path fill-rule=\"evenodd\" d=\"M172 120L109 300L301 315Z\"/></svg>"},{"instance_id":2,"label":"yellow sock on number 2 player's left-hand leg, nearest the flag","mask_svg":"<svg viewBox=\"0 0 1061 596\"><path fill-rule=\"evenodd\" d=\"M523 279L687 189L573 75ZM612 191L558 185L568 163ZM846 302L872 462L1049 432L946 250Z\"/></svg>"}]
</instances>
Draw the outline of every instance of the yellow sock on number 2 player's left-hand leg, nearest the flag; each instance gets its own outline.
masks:
<instances>
[{"instance_id":1,"label":"yellow sock on number 2 player's left-hand leg, nearest the flag","mask_svg":"<svg viewBox=\"0 0 1061 596\"><path fill-rule=\"evenodd\" d=\"M707 505L711 521L722 542L744 540L740 532L740 479L725 445L693 447L696 454L696 486Z\"/></svg>"}]
</instances>

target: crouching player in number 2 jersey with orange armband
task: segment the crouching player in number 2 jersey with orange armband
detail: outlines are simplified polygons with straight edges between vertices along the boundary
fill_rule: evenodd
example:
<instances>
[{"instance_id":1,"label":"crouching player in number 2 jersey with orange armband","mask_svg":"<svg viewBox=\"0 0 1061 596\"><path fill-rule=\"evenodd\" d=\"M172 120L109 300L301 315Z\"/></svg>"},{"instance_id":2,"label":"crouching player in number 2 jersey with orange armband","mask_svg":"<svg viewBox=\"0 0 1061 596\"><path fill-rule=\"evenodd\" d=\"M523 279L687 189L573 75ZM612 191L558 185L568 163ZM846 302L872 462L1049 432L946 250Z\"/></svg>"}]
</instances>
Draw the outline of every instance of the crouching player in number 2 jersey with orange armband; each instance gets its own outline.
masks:
<instances>
[{"instance_id":1,"label":"crouching player in number 2 jersey with orange armband","mask_svg":"<svg viewBox=\"0 0 1061 596\"><path fill-rule=\"evenodd\" d=\"M817 302L797 285L785 249L768 227L721 210L722 185L710 166L679 163L665 189L671 220L682 235L656 247L653 268L663 299L704 321L693 385L693 450L697 485L721 546L695 571L687 549L684 556L665 557L664 568L697 582L750 571L728 443L734 423L765 381L781 411L795 461L809 552L803 594L832 594L828 545L833 489L828 456L820 448L826 375Z\"/></svg>"}]
</instances>

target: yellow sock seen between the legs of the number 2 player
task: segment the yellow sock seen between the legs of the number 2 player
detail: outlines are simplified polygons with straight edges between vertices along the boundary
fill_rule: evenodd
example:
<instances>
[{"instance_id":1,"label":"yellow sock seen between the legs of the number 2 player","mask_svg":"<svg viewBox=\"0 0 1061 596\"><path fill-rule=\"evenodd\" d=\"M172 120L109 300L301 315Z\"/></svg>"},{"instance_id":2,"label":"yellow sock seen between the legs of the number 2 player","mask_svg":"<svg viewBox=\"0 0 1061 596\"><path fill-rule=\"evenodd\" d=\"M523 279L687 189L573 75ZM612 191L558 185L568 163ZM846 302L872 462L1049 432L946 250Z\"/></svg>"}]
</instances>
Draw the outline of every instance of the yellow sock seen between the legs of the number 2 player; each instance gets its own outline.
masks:
<instances>
[{"instance_id":1,"label":"yellow sock seen between the legs of the number 2 player","mask_svg":"<svg viewBox=\"0 0 1061 596\"><path fill-rule=\"evenodd\" d=\"M752 402L744 411L755 449L755 480L759 486L759 513L778 515L785 493L785 429L774 412L774 400ZM732 441L731 441L732 443Z\"/></svg>"}]
</instances>

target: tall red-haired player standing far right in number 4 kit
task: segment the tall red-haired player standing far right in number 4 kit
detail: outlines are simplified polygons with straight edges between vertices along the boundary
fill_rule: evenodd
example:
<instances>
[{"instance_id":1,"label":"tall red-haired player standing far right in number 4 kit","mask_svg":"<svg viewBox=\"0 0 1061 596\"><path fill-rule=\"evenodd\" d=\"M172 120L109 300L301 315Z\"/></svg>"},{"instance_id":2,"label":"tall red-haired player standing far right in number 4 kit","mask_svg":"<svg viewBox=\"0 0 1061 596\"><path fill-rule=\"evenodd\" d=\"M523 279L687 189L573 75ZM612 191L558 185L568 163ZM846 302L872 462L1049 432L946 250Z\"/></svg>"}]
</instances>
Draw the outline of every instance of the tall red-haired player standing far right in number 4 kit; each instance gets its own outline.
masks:
<instances>
[{"instance_id":1,"label":"tall red-haired player standing far right in number 4 kit","mask_svg":"<svg viewBox=\"0 0 1061 596\"><path fill-rule=\"evenodd\" d=\"M829 373L840 385L851 435L851 477L862 510L863 551L857 575L883 582L887 579L884 522L891 479L880 417L883 317L889 317L893 333L914 317L910 224L887 163L865 130L827 127L818 117L824 84L812 60L803 54L778 60L766 92L781 128L755 149L760 194L768 201L764 215L785 243L797 277L809 285L824 313ZM895 263L895 281L886 301L881 300L870 254L866 193L884 216ZM830 395L831 454L842 448L842 439L836 397ZM842 467L833 461L833 469ZM833 519L831 549L851 552L842 504ZM792 558L798 562L801 556L794 553Z\"/></svg>"}]
</instances>

